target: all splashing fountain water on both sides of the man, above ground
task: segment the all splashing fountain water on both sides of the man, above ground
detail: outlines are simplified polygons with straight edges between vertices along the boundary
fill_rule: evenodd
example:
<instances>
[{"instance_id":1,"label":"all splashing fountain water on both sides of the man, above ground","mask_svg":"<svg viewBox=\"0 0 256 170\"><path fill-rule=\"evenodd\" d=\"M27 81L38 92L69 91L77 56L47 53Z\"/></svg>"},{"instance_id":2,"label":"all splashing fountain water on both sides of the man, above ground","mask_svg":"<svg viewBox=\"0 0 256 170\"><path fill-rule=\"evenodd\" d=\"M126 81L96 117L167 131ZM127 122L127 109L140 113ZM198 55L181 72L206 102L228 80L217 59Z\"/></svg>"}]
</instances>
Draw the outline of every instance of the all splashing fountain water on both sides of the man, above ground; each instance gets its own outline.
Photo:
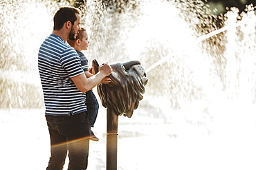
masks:
<instances>
[{"instance_id":1,"label":"all splashing fountain water on both sides of the man, above ground","mask_svg":"<svg viewBox=\"0 0 256 170\"><path fill-rule=\"evenodd\" d=\"M6 35L1 41L1 107L42 106L41 92L35 88L39 86L37 50L51 33L53 12L61 5L68 4L1 3L1 32ZM10 8L13 10L7 10ZM91 38L89 59L141 61L151 80L147 94L169 98L173 108L181 108L183 101L209 100L223 92L254 103L255 95L250 94L255 89L248 88L255 81L253 67L243 66L254 63L250 61L253 9L243 14L239 27L235 25L236 11L229 12L228 20L223 19L225 32L206 38L205 34L217 28L201 1L140 1L122 4L121 12L113 12L118 6L109 10L100 2L88 1L84 9L83 21ZM253 82L246 83L244 78Z\"/></svg>"}]
</instances>

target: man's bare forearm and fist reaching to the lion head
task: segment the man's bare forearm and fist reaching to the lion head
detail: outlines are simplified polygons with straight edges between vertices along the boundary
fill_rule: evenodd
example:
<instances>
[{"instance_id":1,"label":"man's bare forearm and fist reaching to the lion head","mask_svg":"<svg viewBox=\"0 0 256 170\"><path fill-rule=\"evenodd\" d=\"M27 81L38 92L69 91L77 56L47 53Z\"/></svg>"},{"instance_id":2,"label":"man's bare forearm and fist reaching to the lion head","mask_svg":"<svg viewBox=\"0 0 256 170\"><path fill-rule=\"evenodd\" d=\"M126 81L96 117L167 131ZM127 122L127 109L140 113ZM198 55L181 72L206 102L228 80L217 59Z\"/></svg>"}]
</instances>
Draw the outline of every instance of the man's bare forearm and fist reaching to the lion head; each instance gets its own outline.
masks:
<instances>
[{"instance_id":1,"label":"man's bare forearm and fist reaching to the lion head","mask_svg":"<svg viewBox=\"0 0 256 170\"><path fill-rule=\"evenodd\" d=\"M109 76L111 74L112 68L108 64L100 65L99 72L90 78L86 78L85 74L80 74L78 76L71 77L72 81L75 83L77 89L85 93L102 81L102 78Z\"/></svg>"}]
</instances>

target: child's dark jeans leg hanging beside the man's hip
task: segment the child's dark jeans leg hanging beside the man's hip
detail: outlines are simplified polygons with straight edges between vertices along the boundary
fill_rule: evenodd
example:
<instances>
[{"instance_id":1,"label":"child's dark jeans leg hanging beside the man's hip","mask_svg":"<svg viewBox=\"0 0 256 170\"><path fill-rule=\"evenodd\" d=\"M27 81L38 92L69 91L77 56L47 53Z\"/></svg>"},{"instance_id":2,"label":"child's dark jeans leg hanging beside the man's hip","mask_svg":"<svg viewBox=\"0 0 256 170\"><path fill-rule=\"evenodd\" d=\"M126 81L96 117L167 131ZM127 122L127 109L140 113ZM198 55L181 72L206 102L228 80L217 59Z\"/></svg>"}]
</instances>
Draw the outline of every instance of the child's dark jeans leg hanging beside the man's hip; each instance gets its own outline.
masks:
<instances>
[{"instance_id":1,"label":"child's dark jeans leg hanging beside the man's hip","mask_svg":"<svg viewBox=\"0 0 256 170\"><path fill-rule=\"evenodd\" d=\"M99 103L96 96L93 94L93 91L91 90L86 92L86 106L91 127L94 127L94 123L98 116Z\"/></svg>"}]
</instances>

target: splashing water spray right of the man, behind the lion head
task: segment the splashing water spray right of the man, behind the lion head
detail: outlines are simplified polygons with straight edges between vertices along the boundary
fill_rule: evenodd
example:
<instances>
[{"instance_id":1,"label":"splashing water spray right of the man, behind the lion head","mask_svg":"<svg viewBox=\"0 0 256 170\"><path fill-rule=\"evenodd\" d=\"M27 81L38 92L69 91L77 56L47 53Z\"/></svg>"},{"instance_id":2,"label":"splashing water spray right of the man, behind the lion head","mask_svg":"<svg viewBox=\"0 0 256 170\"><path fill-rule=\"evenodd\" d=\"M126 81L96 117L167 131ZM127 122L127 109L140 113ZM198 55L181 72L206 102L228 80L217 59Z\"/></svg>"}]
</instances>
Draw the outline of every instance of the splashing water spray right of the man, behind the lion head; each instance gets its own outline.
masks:
<instances>
[{"instance_id":1,"label":"splashing water spray right of the man, behind the lion head","mask_svg":"<svg viewBox=\"0 0 256 170\"><path fill-rule=\"evenodd\" d=\"M92 11L87 16L90 21L95 13L88 10ZM248 87L255 81L253 67L241 66L254 63L241 57L254 50L245 46L253 44L246 43L253 37L244 32L255 32L252 18L255 14L250 6L240 19L234 8L222 19L226 27L214 34L216 19L201 1L143 1L121 14L104 11L98 22L88 23L93 32L89 57L102 62L139 59L149 71L147 94L168 98L167 105L174 109L195 100L212 103L219 96L254 103L251 92L255 89ZM241 21L236 23L238 19ZM250 82L243 80L245 76Z\"/></svg>"}]
</instances>

